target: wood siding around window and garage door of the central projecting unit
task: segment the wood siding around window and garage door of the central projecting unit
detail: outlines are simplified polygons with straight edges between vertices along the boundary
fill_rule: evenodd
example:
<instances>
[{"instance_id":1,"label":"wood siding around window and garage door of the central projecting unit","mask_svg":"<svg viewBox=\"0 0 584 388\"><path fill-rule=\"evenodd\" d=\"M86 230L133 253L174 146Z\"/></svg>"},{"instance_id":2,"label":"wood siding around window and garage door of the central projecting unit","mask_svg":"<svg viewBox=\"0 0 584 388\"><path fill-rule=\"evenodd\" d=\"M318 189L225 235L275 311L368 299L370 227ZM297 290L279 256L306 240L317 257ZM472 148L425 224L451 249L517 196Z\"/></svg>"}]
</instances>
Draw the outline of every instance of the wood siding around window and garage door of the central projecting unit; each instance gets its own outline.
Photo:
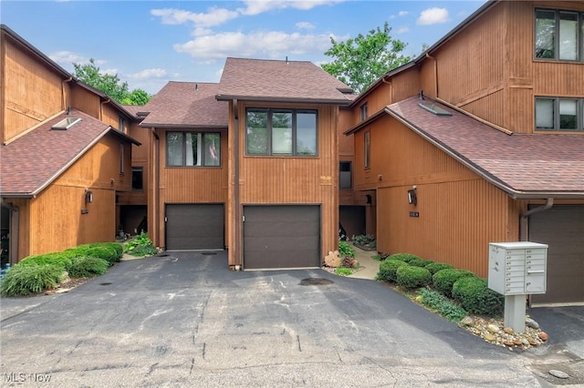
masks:
<instances>
[{"instance_id":1,"label":"wood siding around window and garage door of the central projecting unit","mask_svg":"<svg viewBox=\"0 0 584 388\"><path fill-rule=\"evenodd\" d=\"M245 156L245 108L246 107L294 107L318 109L318 157L247 157ZM336 250L339 228L339 155L337 123L339 107L313 105L246 105L239 104L239 195L241 204L321 204L322 239L321 252ZM233 117L230 119L233 120ZM233 123L234 121L232 121ZM233 124L230 124L233 125ZM230 155L234 155L234 143L230 142ZM230 170L235 164L230 161ZM234 175L230 175L233 181ZM230 188L230 199L235 199L235 188ZM227 209L228 220L234 220L232 201ZM233 244L235 224L228 224L227 243ZM240 236L238 238L241 238ZM326 254L325 253L325 254ZM229 264L236 262L235 252L230 251Z\"/></svg>"}]
</instances>

